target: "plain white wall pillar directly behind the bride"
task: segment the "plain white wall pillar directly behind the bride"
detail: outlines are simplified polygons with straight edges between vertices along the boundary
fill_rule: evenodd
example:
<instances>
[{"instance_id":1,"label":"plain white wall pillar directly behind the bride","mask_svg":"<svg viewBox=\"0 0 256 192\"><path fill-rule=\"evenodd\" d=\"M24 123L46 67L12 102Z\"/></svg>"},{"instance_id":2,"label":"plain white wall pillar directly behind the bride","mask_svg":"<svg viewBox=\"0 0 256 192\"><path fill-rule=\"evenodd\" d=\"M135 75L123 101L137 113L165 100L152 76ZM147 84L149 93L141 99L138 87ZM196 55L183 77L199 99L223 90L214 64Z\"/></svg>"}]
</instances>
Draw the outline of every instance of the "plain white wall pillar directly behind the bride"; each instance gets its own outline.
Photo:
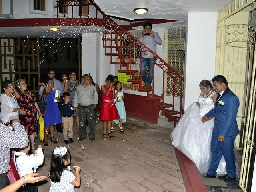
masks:
<instances>
[{"instance_id":1,"label":"plain white wall pillar directly behind the bride","mask_svg":"<svg viewBox=\"0 0 256 192\"><path fill-rule=\"evenodd\" d=\"M184 110L198 100L199 83L214 77L217 12L188 12Z\"/></svg>"}]
</instances>

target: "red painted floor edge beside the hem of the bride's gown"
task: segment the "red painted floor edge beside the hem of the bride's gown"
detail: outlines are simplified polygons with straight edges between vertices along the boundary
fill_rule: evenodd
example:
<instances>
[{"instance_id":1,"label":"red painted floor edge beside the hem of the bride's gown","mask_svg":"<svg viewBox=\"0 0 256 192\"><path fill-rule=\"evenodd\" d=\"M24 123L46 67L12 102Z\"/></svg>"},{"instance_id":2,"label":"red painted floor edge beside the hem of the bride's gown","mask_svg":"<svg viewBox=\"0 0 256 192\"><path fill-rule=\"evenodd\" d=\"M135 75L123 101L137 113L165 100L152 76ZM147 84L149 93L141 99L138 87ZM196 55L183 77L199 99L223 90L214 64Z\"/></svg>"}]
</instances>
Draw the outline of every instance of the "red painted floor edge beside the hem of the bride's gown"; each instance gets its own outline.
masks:
<instances>
[{"instance_id":1,"label":"red painted floor edge beside the hem of the bride's gown","mask_svg":"<svg viewBox=\"0 0 256 192\"><path fill-rule=\"evenodd\" d=\"M182 152L174 148L186 192L208 192L196 165Z\"/></svg>"}]
</instances>

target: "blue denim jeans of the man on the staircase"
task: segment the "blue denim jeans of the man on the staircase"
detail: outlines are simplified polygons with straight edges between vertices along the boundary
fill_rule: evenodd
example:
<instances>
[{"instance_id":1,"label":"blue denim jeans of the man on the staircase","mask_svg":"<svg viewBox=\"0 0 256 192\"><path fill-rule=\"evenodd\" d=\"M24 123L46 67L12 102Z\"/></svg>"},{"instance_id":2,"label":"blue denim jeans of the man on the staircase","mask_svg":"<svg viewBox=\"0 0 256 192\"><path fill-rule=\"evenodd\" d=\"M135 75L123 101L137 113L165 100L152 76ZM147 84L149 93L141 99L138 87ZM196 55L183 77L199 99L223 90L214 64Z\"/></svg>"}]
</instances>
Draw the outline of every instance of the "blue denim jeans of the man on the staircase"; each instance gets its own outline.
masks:
<instances>
[{"instance_id":1,"label":"blue denim jeans of the man on the staircase","mask_svg":"<svg viewBox=\"0 0 256 192\"><path fill-rule=\"evenodd\" d=\"M141 72L141 59L140 59L140 74L145 83L151 85L153 80L153 61L156 61L156 58L144 58L142 57L142 72ZM146 67L148 65L148 77L146 74Z\"/></svg>"}]
</instances>

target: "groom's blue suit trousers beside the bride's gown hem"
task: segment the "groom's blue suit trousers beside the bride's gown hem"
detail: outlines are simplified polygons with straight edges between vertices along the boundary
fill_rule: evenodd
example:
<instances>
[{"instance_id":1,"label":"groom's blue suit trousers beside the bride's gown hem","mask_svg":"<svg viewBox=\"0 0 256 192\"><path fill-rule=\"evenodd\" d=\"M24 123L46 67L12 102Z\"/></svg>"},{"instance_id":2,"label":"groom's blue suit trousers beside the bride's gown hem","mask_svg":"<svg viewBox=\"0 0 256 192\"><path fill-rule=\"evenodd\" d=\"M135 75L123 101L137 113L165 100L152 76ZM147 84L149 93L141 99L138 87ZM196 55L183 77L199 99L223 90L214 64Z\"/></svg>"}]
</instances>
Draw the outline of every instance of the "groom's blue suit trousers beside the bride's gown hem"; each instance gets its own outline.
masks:
<instances>
[{"instance_id":1,"label":"groom's blue suit trousers beside the bride's gown hem","mask_svg":"<svg viewBox=\"0 0 256 192\"><path fill-rule=\"evenodd\" d=\"M208 174L216 175L216 170L222 158L222 154L226 161L227 174L231 178L236 178L236 158L234 154L234 141L236 136L225 137L224 141L218 141L218 134L212 132L211 155L212 159Z\"/></svg>"}]
</instances>

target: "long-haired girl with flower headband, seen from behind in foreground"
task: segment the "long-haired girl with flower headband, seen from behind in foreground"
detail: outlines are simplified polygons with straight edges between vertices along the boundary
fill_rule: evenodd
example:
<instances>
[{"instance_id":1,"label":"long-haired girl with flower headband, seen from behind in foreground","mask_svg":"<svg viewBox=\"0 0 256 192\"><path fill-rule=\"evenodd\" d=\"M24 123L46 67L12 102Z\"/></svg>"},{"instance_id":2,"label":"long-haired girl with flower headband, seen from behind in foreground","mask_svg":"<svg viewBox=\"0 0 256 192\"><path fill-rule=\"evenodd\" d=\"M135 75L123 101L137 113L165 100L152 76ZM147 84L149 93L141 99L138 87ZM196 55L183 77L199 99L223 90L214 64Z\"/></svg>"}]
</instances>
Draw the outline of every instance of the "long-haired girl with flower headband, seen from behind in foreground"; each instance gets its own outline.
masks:
<instances>
[{"instance_id":1,"label":"long-haired girl with flower headband, seen from behind in foreground","mask_svg":"<svg viewBox=\"0 0 256 192\"><path fill-rule=\"evenodd\" d=\"M74 192L80 186L80 166L75 166L76 177L67 170L70 164L70 151L66 147L56 147L52 152L49 178L50 192Z\"/></svg>"}]
</instances>

